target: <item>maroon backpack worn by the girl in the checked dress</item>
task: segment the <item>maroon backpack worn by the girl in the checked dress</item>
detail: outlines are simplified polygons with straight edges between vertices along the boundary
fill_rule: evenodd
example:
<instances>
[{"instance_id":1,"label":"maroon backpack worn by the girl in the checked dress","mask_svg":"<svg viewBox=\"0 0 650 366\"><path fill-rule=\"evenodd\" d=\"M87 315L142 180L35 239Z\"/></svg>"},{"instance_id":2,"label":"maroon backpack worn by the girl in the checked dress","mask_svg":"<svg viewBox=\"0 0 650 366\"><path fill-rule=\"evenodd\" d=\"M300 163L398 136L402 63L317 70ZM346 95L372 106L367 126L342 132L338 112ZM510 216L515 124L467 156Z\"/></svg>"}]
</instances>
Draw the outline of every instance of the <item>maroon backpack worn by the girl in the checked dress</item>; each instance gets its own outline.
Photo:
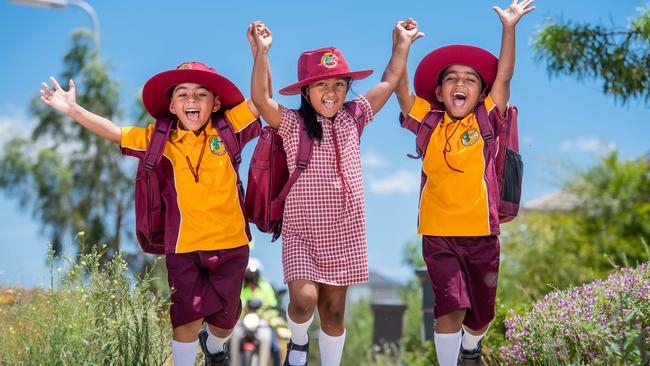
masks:
<instances>
[{"instance_id":1,"label":"maroon backpack worn by the girl in the checked dress","mask_svg":"<svg viewBox=\"0 0 650 366\"><path fill-rule=\"evenodd\" d=\"M359 138L361 138L365 125L362 118L363 110L355 102L345 103L343 107L356 121ZM314 146L314 140L307 135L305 122L300 114L298 115L300 126L298 126L296 169L291 175L287 167L287 154L282 146L282 138L270 126L262 130L248 169L245 203L248 221L254 223L261 232L273 233L271 242L280 236L284 201L300 174L307 169Z\"/></svg>"}]
</instances>

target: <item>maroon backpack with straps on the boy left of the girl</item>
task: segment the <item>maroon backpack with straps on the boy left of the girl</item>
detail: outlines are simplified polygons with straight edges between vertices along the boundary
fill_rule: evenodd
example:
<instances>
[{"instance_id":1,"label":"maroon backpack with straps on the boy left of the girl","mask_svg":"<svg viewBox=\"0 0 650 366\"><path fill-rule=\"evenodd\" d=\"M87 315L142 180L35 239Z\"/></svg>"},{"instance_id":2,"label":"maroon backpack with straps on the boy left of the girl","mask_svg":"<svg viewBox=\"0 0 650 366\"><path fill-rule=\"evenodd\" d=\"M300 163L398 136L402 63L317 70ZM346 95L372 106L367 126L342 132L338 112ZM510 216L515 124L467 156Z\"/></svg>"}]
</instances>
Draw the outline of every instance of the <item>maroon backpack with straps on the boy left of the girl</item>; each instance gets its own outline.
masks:
<instances>
[{"instance_id":1,"label":"maroon backpack with straps on the boy left of the girl","mask_svg":"<svg viewBox=\"0 0 650 366\"><path fill-rule=\"evenodd\" d=\"M223 140L237 173L239 203L246 218L246 212L243 210L244 190L239 179L241 148L246 142L259 135L261 123L256 120L239 133L233 131L230 122L223 115L213 115L212 123ZM177 231L166 225L167 212L162 195L166 177L173 172L165 169L163 167L165 164L159 164L173 124L174 122L169 118L156 120L151 141L145 152L122 148L123 154L140 158L135 179L135 231L142 251L149 254L165 254L165 232ZM250 239L248 225L246 225L246 234ZM173 245L168 246L171 248L167 252L173 252Z\"/></svg>"}]
</instances>

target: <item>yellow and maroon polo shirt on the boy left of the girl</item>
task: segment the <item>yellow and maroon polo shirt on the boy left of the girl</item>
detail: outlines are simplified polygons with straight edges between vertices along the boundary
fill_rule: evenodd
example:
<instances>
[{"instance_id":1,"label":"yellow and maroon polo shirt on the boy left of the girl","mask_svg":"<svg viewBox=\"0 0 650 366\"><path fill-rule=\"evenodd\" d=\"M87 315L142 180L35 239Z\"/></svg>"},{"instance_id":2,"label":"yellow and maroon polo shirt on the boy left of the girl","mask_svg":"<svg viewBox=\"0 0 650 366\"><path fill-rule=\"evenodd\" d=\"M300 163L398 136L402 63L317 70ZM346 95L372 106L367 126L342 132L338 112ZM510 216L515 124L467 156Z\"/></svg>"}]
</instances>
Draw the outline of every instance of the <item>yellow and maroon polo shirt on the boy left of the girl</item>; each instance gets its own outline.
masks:
<instances>
[{"instance_id":1,"label":"yellow and maroon polo shirt on the boy left of the girl","mask_svg":"<svg viewBox=\"0 0 650 366\"><path fill-rule=\"evenodd\" d=\"M225 115L235 133L257 119L245 101L227 110ZM154 124L123 127L122 149L146 150L153 130ZM202 150L203 157L197 172L199 181L196 182L192 169L197 170ZM173 175L172 194L163 194L167 210L177 209L179 213L166 217L166 220L177 221L171 226L179 228L175 253L228 249L248 244L247 223L237 191L237 173L212 123L208 123L198 136L192 131L173 129L161 163L170 164L170 175ZM167 227L170 227L169 224ZM170 234L167 232L165 235ZM168 238L165 237L166 245L167 242Z\"/></svg>"}]
</instances>

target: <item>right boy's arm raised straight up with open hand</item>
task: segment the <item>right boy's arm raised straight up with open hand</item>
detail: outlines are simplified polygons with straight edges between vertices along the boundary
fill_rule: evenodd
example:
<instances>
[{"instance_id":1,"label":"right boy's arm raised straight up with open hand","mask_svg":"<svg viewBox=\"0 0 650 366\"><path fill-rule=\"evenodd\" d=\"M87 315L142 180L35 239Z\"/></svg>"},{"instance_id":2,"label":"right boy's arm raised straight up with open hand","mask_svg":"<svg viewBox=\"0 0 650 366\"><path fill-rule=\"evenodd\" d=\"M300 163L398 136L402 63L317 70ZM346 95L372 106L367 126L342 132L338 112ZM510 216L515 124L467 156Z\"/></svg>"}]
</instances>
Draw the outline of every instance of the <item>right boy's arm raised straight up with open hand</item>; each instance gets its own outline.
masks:
<instances>
[{"instance_id":1,"label":"right boy's arm raised straight up with open hand","mask_svg":"<svg viewBox=\"0 0 650 366\"><path fill-rule=\"evenodd\" d=\"M523 0L520 3L519 0L513 0L505 10L498 6L492 7L499 14L503 24L499 67L490 92L492 100L501 114L505 113L508 99L510 99L510 80L512 80L515 70L515 26L522 16L535 9L534 6L530 6L533 1Z\"/></svg>"}]
</instances>

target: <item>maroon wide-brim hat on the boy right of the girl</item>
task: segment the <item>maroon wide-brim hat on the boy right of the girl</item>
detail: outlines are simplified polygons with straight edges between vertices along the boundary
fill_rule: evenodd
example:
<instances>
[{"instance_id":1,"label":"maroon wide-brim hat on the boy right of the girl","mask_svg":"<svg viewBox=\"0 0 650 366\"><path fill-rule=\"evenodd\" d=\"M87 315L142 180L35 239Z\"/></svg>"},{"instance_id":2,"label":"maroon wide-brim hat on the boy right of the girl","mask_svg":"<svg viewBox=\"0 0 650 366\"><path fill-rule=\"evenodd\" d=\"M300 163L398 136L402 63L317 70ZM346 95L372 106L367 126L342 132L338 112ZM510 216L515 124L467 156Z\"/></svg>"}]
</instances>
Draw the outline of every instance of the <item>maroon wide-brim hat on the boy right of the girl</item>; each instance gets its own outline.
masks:
<instances>
[{"instance_id":1,"label":"maroon wide-brim hat on the boy right of the girl","mask_svg":"<svg viewBox=\"0 0 650 366\"><path fill-rule=\"evenodd\" d=\"M479 47L450 45L438 48L424 56L415 70L415 94L426 99L432 107L443 109L444 106L436 98L436 88L444 69L451 65L469 66L481 75L487 90L490 90L497 75L498 64L496 56Z\"/></svg>"}]
</instances>

